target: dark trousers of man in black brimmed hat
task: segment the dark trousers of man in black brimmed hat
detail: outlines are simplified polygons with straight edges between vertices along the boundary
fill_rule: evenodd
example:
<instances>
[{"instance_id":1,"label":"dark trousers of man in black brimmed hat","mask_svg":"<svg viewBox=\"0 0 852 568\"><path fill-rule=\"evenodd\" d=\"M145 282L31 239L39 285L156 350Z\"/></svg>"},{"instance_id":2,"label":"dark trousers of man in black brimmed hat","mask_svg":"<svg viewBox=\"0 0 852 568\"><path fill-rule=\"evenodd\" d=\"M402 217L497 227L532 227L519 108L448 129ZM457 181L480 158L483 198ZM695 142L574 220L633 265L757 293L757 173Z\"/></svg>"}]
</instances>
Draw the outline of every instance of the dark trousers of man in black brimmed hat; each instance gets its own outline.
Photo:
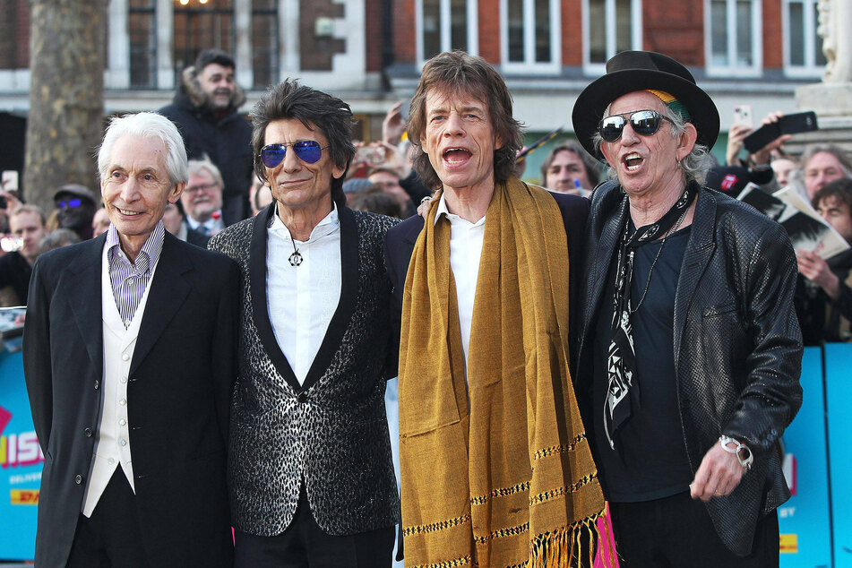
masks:
<instances>
[{"instance_id":1,"label":"dark trousers of man in black brimmed hat","mask_svg":"<svg viewBox=\"0 0 852 568\"><path fill-rule=\"evenodd\" d=\"M722 543L710 514L689 492L641 503L609 503L621 568L770 568L779 565L778 514L757 523L752 554Z\"/></svg>"}]
</instances>

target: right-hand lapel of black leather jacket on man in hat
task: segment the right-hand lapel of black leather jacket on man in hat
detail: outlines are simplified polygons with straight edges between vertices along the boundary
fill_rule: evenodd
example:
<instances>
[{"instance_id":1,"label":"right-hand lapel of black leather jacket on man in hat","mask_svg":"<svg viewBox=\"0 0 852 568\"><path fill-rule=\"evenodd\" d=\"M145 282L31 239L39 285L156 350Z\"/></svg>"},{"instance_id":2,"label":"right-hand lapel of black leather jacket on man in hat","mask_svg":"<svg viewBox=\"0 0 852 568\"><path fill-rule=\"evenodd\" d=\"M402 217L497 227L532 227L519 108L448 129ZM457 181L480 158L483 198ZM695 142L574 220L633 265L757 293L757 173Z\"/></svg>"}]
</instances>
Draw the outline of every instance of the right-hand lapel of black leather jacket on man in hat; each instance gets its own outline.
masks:
<instances>
[{"instance_id":1,"label":"right-hand lapel of black leather jacket on man in hat","mask_svg":"<svg viewBox=\"0 0 852 568\"><path fill-rule=\"evenodd\" d=\"M713 240L716 228L716 199L703 188L699 190L696 199L693 224L675 291L675 369L680 356L681 340L684 337L686 315L689 314L695 288L698 287L701 275L716 248Z\"/></svg>"}]
</instances>

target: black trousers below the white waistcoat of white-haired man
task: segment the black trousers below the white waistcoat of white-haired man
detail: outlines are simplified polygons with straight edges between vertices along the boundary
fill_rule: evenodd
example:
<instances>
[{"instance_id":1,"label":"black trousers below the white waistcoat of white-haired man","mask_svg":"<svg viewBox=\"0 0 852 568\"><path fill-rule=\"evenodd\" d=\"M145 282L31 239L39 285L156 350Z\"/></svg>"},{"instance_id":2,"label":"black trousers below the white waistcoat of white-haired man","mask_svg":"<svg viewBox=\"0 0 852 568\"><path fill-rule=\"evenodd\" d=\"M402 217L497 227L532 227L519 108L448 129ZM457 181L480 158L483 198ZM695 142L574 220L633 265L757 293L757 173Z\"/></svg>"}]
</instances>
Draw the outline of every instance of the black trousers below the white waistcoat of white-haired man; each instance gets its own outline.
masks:
<instances>
[{"instance_id":1,"label":"black trousers below the white waistcoat of white-haired man","mask_svg":"<svg viewBox=\"0 0 852 568\"><path fill-rule=\"evenodd\" d=\"M86 518L80 513L74 532L68 568L144 568L148 559L142 547L142 530L136 497L116 468L98 505Z\"/></svg>"}]
</instances>

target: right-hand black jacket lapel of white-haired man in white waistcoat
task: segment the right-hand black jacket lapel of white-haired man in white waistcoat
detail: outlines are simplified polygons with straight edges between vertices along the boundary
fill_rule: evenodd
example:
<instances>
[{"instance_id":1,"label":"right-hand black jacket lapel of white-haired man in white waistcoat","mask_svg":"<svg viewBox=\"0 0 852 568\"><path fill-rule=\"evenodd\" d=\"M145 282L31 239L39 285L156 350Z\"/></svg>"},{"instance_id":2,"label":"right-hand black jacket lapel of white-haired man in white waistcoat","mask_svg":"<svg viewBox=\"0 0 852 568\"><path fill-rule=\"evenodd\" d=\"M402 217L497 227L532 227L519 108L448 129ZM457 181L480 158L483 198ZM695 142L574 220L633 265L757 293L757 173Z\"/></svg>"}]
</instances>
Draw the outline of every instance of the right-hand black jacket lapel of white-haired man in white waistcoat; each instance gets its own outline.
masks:
<instances>
[{"instance_id":1,"label":"right-hand black jacket lapel of white-haired man in white waistcoat","mask_svg":"<svg viewBox=\"0 0 852 568\"><path fill-rule=\"evenodd\" d=\"M182 245L183 243L166 231L157 270L149 283L151 291L148 293L148 303L145 305L145 313L142 314L139 336L136 339L136 347L133 349L131 374L139 368L142 360L159 340L159 336L175 317L177 310L184 304L185 298L192 289L190 283L184 278L184 273L193 270L193 265L184 254L181 254Z\"/></svg>"}]
</instances>

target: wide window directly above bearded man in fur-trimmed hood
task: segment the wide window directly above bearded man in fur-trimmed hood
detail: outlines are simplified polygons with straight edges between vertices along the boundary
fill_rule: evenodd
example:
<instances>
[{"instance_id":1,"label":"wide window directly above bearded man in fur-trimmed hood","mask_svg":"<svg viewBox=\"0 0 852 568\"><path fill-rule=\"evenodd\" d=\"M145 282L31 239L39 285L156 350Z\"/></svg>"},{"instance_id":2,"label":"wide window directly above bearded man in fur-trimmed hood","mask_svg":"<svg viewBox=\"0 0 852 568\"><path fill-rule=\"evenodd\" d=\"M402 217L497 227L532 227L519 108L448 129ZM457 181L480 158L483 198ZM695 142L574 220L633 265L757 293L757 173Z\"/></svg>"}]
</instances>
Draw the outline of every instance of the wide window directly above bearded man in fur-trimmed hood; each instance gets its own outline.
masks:
<instances>
[{"instance_id":1,"label":"wide window directly above bearded man in fur-trimmed hood","mask_svg":"<svg viewBox=\"0 0 852 568\"><path fill-rule=\"evenodd\" d=\"M206 4L175 4L175 72L177 84L185 67L194 65L204 49L234 54L234 6L231 0L208 0Z\"/></svg>"}]
</instances>

